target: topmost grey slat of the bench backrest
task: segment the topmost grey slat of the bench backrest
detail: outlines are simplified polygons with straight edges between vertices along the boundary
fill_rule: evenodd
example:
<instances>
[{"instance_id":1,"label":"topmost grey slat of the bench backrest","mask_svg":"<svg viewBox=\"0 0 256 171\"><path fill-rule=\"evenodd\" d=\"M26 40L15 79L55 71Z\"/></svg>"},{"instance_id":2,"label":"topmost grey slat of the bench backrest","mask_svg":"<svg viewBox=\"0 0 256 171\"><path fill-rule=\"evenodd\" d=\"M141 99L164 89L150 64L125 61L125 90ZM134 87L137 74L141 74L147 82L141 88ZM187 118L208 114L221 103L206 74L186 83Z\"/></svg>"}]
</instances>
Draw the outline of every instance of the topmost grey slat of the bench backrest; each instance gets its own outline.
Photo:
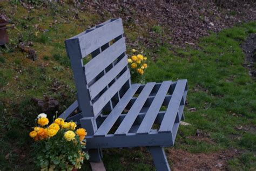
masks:
<instances>
[{"instance_id":1,"label":"topmost grey slat of the bench backrest","mask_svg":"<svg viewBox=\"0 0 256 171\"><path fill-rule=\"evenodd\" d=\"M84 34L77 36L82 56L85 57L100 46L110 42L112 39L123 35L123 33L124 29L121 18L106 23L94 30L89 29L89 31L86 31Z\"/></svg>"}]
</instances>

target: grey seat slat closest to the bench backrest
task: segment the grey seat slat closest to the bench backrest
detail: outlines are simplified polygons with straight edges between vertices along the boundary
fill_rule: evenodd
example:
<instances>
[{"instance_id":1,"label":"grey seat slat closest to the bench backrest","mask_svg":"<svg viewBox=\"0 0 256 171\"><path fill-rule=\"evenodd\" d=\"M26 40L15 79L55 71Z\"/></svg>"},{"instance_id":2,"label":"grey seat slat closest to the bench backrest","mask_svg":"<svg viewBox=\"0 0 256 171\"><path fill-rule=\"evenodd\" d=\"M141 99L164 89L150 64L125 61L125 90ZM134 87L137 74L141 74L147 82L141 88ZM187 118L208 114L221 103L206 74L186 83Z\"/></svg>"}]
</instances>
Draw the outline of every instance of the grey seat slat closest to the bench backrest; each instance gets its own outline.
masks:
<instances>
[{"instance_id":1,"label":"grey seat slat closest to the bench backrest","mask_svg":"<svg viewBox=\"0 0 256 171\"><path fill-rule=\"evenodd\" d=\"M94 136L105 136L114 125L114 122L118 119L119 115L123 112L126 105L129 103L133 95L138 90L140 84L133 84L129 90L124 94L122 99L118 102L118 104L113 108L107 118L104 120L102 125L98 128L97 132Z\"/></svg>"}]
</instances>

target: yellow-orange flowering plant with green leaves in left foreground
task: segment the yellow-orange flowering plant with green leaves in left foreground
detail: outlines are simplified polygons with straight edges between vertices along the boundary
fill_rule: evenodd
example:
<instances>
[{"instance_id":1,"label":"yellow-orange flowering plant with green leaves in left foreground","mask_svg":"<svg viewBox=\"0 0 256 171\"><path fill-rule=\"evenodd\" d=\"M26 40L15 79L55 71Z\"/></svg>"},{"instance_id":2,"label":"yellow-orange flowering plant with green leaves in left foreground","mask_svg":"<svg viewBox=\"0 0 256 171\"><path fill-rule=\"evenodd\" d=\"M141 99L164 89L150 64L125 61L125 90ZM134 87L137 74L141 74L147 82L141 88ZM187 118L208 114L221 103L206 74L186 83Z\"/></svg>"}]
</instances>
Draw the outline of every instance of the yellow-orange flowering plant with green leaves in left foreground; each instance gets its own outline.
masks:
<instances>
[{"instance_id":1,"label":"yellow-orange flowering plant with green leaves in left foreground","mask_svg":"<svg viewBox=\"0 0 256 171\"><path fill-rule=\"evenodd\" d=\"M81 168L84 158L89 155L82 151L85 148L84 128L78 128L76 122L66 122L62 118L49 124L47 115L41 113L37 117L37 126L29 133L35 142L38 165L45 170L72 170Z\"/></svg>"}]
</instances>

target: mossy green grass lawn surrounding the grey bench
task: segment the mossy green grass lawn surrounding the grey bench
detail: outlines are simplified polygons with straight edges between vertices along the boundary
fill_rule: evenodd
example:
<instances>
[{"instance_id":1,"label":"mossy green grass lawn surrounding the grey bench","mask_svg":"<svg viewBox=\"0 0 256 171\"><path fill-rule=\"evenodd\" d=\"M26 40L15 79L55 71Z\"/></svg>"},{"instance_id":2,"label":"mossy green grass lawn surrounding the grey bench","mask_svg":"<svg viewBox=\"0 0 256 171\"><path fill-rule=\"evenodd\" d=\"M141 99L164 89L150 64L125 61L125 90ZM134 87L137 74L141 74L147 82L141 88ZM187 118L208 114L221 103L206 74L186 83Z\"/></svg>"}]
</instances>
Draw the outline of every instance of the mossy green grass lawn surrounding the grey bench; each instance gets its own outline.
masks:
<instances>
[{"instance_id":1,"label":"mossy green grass lawn surrounding the grey bench","mask_svg":"<svg viewBox=\"0 0 256 171\"><path fill-rule=\"evenodd\" d=\"M28 133L37 109L31 98L56 98L59 113L75 100L64 40L97 23L100 16L82 12L79 19L73 19L75 12L67 12L68 6L56 5L28 12L21 5L0 3L0 9L16 24L16 29L8 32L9 50L1 49L0 53L0 168L35 169ZM62 10L62 16L56 15L55 10ZM127 39L141 31L125 28ZM157 54L156 60L149 61L146 81L186 78L190 88L184 112L185 122L191 125L179 127L176 145L166 148L167 154L171 155L169 149L206 155L235 151L226 161L226 169L256 169L256 82L243 66L245 56L240 47L250 33L256 33L256 22L211 33L199 40L198 49L166 44L145 50L146 54ZM18 42L33 42L37 60L28 59L16 47ZM139 48L143 49L143 45ZM57 91L52 88L56 84ZM173 167L178 162L172 161L171 156L169 159ZM107 170L154 169L145 148L106 149L103 160ZM86 161L82 170L88 167Z\"/></svg>"}]
</instances>

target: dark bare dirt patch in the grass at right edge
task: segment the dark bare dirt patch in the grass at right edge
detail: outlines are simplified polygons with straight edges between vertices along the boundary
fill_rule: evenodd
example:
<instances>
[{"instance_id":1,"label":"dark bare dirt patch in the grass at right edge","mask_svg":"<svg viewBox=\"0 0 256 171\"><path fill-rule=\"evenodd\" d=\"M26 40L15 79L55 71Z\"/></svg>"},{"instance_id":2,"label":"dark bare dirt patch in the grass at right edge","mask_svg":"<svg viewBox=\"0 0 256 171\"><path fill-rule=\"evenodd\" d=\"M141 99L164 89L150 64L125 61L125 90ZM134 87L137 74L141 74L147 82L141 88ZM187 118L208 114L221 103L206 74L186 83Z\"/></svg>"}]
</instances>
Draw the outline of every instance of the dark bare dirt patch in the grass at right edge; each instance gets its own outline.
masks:
<instances>
[{"instance_id":1,"label":"dark bare dirt patch in the grass at right edge","mask_svg":"<svg viewBox=\"0 0 256 171\"><path fill-rule=\"evenodd\" d=\"M245 52L245 66L249 69L250 76L256 78L256 34L251 34L242 45Z\"/></svg>"}]
</instances>

